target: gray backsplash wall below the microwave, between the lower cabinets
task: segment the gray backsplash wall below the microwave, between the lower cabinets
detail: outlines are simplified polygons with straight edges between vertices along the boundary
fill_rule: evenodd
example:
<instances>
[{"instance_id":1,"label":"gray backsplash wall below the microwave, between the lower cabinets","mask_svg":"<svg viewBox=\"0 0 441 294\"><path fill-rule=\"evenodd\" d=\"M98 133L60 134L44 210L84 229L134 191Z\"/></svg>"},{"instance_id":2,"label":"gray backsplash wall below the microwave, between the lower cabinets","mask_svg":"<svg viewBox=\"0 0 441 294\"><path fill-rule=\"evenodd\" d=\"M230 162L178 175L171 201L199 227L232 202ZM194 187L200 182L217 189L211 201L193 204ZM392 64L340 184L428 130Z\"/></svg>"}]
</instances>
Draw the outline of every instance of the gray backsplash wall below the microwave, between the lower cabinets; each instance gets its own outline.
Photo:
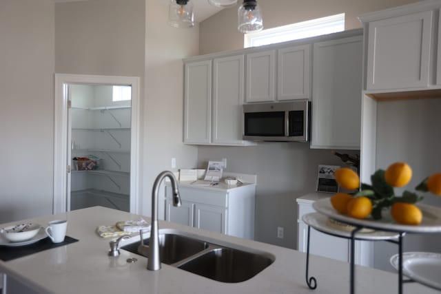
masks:
<instances>
[{"instance_id":1,"label":"gray backsplash wall below the microwave, between the lower cabinets","mask_svg":"<svg viewBox=\"0 0 441 294\"><path fill-rule=\"evenodd\" d=\"M198 167L221 158L227 158L226 171L257 175L256 240L292 249L297 248L296 198L315 191L318 165L344 165L331 150L309 149L307 143L198 147ZM277 238L277 227L284 227L283 239Z\"/></svg>"}]
</instances>

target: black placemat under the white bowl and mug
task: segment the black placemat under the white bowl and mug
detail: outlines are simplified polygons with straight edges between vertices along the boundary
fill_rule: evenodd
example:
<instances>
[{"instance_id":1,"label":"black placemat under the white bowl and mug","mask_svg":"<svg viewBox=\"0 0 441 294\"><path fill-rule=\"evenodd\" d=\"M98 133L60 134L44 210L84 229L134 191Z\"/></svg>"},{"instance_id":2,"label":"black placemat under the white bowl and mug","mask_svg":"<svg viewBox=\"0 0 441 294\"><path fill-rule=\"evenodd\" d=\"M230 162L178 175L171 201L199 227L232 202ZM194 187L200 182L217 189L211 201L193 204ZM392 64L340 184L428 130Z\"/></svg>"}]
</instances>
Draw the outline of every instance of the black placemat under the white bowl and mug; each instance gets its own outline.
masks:
<instances>
[{"instance_id":1,"label":"black placemat under the white bowl and mug","mask_svg":"<svg viewBox=\"0 0 441 294\"><path fill-rule=\"evenodd\" d=\"M78 240L69 237L68 235L64 238L64 242L52 243L50 238L44 238L35 242L33 244L25 246L0 246L0 260L7 262L9 260L14 260L16 258L22 258L23 256L34 254L40 251L45 251L48 249L56 248L59 246L64 246L78 242Z\"/></svg>"}]
</instances>

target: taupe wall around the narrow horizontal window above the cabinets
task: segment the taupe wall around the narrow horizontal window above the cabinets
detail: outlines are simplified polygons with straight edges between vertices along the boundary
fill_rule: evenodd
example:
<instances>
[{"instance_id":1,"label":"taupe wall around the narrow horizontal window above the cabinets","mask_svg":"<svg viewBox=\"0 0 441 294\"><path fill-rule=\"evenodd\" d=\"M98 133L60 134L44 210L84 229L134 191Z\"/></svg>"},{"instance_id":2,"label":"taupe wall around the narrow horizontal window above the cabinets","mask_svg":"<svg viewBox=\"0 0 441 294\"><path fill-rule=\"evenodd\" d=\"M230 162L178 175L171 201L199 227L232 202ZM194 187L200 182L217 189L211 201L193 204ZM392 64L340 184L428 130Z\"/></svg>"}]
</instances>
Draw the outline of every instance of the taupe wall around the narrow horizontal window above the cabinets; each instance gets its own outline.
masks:
<instances>
[{"instance_id":1,"label":"taupe wall around the narrow horizontal window above the cabinets","mask_svg":"<svg viewBox=\"0 0 441 294\"><path fill-rule=\"evenodd\" d=\"M238 1L242 3L243 1ZM361 28L357 17L366 12L404 5L416 0L259 0L264 29L327 17L345 12L345 28ZM237 7L227 8L201 23L200 53L243 48L243 34L237 30Z\"/></svg>"}]
</instances>

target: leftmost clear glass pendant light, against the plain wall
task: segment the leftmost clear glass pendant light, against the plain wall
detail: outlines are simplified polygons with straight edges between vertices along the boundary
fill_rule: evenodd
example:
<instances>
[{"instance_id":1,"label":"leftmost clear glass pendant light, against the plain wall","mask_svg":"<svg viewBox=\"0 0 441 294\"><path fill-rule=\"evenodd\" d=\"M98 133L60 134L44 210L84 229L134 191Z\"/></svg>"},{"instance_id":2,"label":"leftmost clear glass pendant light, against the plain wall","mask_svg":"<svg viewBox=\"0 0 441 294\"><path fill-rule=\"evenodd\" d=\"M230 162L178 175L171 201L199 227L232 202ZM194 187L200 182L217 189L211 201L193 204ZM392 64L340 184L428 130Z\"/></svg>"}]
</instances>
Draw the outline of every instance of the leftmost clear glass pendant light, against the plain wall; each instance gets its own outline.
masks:
<instances>
[{"instance_id":1,"label":"leftmost clear glass pendant light, against the plain wall","mask_svg":"<svg viewBox=\"0 0 441 294\"><path fill-rule=\"evenodd\" d=\"M192 1L171 0L168 8L168 23L174 28L192 28L194 26Z\"/></svg>"}]
</instances>

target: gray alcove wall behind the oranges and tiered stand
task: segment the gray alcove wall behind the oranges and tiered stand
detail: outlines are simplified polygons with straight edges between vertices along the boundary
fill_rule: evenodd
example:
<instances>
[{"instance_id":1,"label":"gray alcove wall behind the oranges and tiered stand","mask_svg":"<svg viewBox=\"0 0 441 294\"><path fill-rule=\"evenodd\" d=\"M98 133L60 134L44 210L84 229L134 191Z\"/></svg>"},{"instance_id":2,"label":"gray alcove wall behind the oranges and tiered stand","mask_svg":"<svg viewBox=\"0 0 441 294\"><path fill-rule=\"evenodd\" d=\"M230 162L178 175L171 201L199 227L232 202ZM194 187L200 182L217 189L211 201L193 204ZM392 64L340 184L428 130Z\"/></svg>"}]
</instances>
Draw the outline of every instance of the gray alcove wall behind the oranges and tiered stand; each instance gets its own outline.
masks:
<instances>
[{"instance_id":1,"label":"gray alcove wall behind the oranges and tiered stand","mask_svg":"<svg viewBox=\"0 0 441 294\"><path fill-rule=\"evenodd\" d=\"M424 178L441 170L441 98L378 103L376 167L387 169L396 161L407 162L413 171L411 182L396 189L415 191ZM441 197L424 195L424 203L441 207ZM440 252L440 234L409 234L404 251ZM395 244L375 242L374 266L392 270L391 255L398 253Z\"/></svg>"}]
</instances>

